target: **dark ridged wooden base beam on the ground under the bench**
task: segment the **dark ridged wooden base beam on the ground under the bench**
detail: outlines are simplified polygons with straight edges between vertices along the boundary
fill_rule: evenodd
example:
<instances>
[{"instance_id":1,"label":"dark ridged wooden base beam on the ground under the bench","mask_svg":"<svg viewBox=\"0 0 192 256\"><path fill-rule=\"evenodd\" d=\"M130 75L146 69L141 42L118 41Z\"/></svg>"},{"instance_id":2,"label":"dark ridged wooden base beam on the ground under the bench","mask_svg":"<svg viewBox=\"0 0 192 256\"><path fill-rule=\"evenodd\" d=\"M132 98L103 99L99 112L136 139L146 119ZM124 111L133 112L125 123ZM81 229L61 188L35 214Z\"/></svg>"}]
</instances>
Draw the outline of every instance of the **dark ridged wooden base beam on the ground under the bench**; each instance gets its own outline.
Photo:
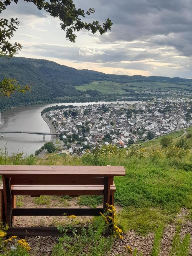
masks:
<instances>
[{"instance_id":1,"label":"dark ridged wooden base beam on the ground under the bench","mask_svg":"<svg viewBox=\"0 0 192 256\"><path fill-rule=\"evenodd\" d=\"M76 234L81 234L82 227L74 227L77 230ZM84 229L88 229L88 227L83 227ZM67 229L67 236L74 236L73 230ZM108 236L109 232L105 231L103 236ZM14 227L8 228L7 237L17 236L17 237L34 237L34 236L63 236L56 227Z\"/></svg>"}]
</instances>

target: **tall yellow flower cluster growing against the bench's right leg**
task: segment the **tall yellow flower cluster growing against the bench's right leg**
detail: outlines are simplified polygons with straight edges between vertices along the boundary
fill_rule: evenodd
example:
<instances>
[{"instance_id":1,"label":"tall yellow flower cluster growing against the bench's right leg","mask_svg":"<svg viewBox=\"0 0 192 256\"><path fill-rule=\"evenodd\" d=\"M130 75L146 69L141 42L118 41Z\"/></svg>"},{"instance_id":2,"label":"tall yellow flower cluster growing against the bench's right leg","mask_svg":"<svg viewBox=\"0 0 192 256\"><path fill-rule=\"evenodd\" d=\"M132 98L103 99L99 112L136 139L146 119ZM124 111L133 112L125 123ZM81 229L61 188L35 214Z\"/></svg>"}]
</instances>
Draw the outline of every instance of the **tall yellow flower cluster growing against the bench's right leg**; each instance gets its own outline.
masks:
<instances>
[{"instance_id":1,"label":"tall yellow flower cluster growing against the bench's right leg","mask_svg":"<svg viewBox=\"0 0 192 256\"><path fill-rule=\"evenodd\" d=\"M122 229L120 229L117 226L117 222L114 219L114 216L116 216L116 214L115 214L115 212L116 212L115 207L113 205L109 205L109 204L106 204L106 207L107 207L106 213L102 214L100 212L100 215L102 216L102 218L104 218L105 222L108 225L112 225L114 237L116 238L118 236L119 238L123 239L123 236L122 236L123 231L122 231ZM111 214L112 214L112 216L109 216Z\"/></svg>"}]
</instances>

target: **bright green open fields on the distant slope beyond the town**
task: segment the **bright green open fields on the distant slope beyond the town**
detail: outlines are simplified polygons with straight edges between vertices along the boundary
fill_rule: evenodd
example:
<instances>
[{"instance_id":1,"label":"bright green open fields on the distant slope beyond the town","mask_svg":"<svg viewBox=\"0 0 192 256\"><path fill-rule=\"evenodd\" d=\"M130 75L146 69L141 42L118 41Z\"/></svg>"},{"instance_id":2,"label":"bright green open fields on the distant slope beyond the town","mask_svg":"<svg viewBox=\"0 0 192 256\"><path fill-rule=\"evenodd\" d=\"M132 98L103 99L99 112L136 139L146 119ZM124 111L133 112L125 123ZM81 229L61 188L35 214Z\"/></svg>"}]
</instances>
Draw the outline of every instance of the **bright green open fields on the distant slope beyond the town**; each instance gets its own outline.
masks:
<instances>
[{"instance_id":1,"label":"bright green open fields on the distant slope beyond the town","mask_svg":"<svg viewBox=\"0 0 192 256\"><path fill-rule=\"evenodd\" d=\"M190 84L190 83L189 83ZM129 86L126 86L129 85ZM103 94L124 94L127 93L126 91L123 90L123 88L126 89L133 89L135 91L141 91L143 88L140 87L135 87L135 86L142 86L143 88L151 88L151 89L158 89L160 88L161 90L169 89L172 91L177 90L176 88L170 88L170 86L177 87L178 90L179 88L191 88L187 85L184 84L168 84L168 83L162 83L162 82L133 82L133 83L127 83L127 84L121 84L121 83L116 83L116 82L111 82L111 81L94 81L89 84L84 84L81 86L75 86L77 90L81 91L86 91L86 90L97 90ZM169 88L166 88L169 87Z\"/></svg>"}]
</instances>

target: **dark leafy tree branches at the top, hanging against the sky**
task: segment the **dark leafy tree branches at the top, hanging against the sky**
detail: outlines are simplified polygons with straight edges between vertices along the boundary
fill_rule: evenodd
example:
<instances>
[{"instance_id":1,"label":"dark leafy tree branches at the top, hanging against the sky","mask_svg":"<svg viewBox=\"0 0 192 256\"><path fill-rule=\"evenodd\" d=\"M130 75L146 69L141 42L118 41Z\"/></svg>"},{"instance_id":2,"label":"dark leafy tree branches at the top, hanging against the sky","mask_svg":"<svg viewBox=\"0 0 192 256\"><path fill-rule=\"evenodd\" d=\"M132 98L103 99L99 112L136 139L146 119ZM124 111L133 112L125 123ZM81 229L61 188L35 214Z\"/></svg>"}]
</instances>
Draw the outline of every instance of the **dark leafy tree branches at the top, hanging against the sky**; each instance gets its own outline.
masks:
<instances>
[{"instance_id":1,"label":"dark leafy tree branches at the top, hanging against the sky","mask_svg":"<svg viewBox=\"0 0 192 256\"><path fill-rule=\"evenodd\" d=\"M83 22L82 18L86 15L94 13L94 9L90 8L88 11L82 9L76 9L73 0L50 0L46 2L44 0L24 0L26 2L34 3L39 10L44 9L52 17L58 17L61 21L61 29L66 31L66 38L75 42L75 31L82 29L91 31L95 34L97 31L100 34L104 34L107 30L111 30L112 22L108 18L102 25L97 20L92 23ZM0 0L0 13L7 8L12 2L18 3L18 0ZM12 57L18 50L21 49L19 43L11 44L8 40L13 37L13 32L16 31L19 21L11 18L10 23L7 19L0 19L0 57L8 55Z\"/></svg>"}]
</instances>

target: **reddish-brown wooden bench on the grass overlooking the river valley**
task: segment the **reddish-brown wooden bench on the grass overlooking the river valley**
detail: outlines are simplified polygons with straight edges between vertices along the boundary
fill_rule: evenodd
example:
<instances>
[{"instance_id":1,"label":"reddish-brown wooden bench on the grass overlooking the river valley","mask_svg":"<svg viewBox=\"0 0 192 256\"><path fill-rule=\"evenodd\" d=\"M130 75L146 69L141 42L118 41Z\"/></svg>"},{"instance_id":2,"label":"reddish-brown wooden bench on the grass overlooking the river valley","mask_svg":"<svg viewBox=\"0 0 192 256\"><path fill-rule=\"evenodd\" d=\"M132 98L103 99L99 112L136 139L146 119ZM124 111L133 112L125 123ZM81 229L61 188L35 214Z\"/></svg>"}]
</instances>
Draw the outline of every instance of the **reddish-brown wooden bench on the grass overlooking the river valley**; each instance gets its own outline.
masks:
<instances>
[{"instance_id":1,"label":"reddish-brown wooden bench on the grass overlooking the river valley","mask_svg":"<svg viewBox=\"0 0 192 256\"><path fill-rule=\"evenodd\" d=\"M15 216L98 216L106 203L114 204L114 176L124 176L123 166L0 166L3 186L1 221L13 226ZM16 208L17 195L102 195L102 208ZM14 227L15 228L15 227Z\"/></svg>"}]
</instances>

